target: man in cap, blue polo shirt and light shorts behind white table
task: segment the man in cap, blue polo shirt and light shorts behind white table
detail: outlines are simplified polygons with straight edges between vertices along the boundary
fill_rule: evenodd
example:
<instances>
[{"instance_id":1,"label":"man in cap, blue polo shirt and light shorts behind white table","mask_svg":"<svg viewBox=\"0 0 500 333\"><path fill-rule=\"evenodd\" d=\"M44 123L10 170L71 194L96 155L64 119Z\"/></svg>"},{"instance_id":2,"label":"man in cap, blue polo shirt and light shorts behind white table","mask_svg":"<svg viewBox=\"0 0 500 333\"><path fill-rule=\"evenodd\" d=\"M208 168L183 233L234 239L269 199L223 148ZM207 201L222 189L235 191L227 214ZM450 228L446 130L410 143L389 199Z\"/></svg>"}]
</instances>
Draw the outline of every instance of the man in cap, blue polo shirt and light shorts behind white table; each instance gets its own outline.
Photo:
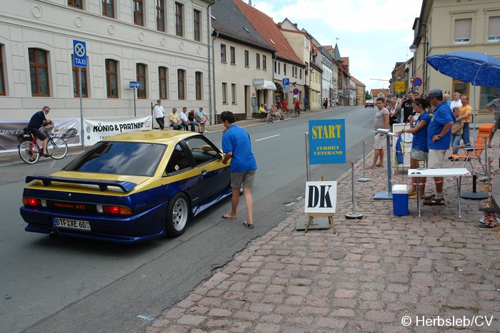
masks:
<instances>
[{"instance_id":1,"label":"man in cap, blue polo shirt and light shorts behind white table","mask_svg":"<svg viewBox=\"0 0 500 333\"><path fill-rule=\"evenodd\" d=\"M444 154L450 147L451 126L455 122L450 113L449 106L443 101L441 89L432 89L426 100L434 106L434 114L427 128L427 143L429 145L429 168L443 167ZM424 200L424 205L444 205L443 177L434 177L436 194L429 195Z\"/></svg>"}]
</instances>

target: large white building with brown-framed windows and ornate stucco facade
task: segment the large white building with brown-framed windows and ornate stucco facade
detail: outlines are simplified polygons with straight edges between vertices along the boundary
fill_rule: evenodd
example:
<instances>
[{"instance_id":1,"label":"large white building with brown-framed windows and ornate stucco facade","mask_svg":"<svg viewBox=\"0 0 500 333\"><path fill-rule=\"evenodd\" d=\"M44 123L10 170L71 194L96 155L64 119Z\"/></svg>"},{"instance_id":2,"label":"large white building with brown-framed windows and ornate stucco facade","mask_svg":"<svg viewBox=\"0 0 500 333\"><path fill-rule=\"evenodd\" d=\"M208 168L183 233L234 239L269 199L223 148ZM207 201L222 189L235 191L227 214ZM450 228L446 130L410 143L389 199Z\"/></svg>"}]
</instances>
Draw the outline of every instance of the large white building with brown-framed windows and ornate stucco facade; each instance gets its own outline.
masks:
<instances>
[{"instance_id":1,"label":"large white building with brown-framed windows and ornate stucco facade","mask_svg":"<svg viewBox=\"0 0 500 333\"><path fill-rule=\"evenodd\" d=\"M84 116L151 114L172 107L209 111L211 0L3 0L0 13L3 120L29 119L42 106L51 118L78 118L73 41L86 42Z\"/></svg>"}]
</instances>

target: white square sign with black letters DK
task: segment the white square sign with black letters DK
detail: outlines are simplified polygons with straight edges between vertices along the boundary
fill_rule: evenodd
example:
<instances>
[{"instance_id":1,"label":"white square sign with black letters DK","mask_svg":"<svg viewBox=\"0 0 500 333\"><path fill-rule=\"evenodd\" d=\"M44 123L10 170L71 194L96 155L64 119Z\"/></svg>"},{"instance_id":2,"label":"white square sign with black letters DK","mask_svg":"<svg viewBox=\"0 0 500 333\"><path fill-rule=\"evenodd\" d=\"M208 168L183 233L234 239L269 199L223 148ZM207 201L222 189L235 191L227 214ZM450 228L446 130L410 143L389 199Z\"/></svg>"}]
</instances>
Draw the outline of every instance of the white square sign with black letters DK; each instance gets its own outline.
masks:
<instances>
[{"instance_id":1,"label":"white square sign with black letters DK","mask_svg":"<svg viewBox=\"0 0 500 333\"><path fill-rule=\"evenodd\" d=\"M306 182L304 212L334 213L337 203L337 182Z\"/></svg>"}]
</instances>

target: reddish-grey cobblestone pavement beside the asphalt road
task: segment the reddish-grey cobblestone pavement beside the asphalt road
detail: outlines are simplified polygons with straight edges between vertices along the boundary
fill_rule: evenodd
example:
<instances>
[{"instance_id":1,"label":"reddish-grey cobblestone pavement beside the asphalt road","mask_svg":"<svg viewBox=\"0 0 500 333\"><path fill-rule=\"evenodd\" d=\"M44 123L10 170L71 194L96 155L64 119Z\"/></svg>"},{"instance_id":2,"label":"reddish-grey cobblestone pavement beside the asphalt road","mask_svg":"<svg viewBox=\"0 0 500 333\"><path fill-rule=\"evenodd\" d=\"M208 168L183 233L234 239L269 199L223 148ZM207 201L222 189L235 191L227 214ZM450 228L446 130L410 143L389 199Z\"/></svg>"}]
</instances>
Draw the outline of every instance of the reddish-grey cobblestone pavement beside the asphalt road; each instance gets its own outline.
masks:
<instances>
[{"instance_id":1,"label":"reddish-grey cobblestone pavement beside the asphalt road","mask_svg":"<svg viewBox=\"0 0 500 333\"><path fill-rule=\"evenodd\" d=\"M386 180L356 183L364 218L346 220L349 171L338 180L337 235L295 231L306 220L298 205L145 332L500 332L499 232L479 228L483 200L461 200L458 217L454 183L446 205L422 217L416 200L403 217L373 200Z\"/></svg>"}]
</instances>

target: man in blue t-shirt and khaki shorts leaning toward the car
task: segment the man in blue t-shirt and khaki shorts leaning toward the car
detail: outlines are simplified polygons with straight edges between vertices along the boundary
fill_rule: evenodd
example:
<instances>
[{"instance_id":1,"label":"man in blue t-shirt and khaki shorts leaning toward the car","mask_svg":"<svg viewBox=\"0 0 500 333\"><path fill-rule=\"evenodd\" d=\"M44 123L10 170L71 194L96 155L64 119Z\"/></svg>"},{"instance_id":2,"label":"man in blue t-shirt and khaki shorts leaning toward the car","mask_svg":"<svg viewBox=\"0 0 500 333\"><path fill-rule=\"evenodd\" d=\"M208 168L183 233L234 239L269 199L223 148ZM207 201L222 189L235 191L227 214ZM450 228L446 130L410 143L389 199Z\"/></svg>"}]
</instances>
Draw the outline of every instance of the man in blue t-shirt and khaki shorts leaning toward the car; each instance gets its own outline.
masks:
<instances>
[{"instance_id":1,"label":"man in blue t-shirt and khaki shorts leaning toward the car","mask_svg":"<svg viewBox=\"0 0 500 333\"><path fill-rule=\"evenodd\" d=\"M250 135L246 130L236 125L236 118L231 111L221 113L221 121L226 130L222 135L222 151L224 158L222 163L226 164L231 158L231 212L222 215L222 218L236 220L236 210L239 203L239 190L243 187L246 212L248 217L243 223L249 229L254 229L254 199L250 188L254 183L257 163L254 153L251 152Z\"/></svg>"}]
</instances>

